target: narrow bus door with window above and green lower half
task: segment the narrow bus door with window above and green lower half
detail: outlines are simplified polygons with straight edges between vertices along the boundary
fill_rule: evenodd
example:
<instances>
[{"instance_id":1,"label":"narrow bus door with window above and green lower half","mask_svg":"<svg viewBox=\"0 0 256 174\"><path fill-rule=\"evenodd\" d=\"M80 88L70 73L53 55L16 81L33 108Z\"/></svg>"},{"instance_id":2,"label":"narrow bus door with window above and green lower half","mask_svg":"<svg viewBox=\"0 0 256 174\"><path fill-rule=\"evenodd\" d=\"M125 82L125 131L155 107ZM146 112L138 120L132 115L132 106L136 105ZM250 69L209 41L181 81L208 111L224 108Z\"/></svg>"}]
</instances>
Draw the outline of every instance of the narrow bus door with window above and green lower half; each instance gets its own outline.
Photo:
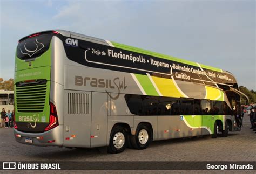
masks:
<instances>
[{"instance_id":1,"label":"narrow bus door with window above and green lower half","mask_svg":"<svg viewBox=\"0 0 256 174\"><path fill-rule=\"evenodd\" d=\"M210 100L203 99L201 101L202 107L202 135L208 135L210 132L213 133L212 120L214 115L212 115L212 106ZM211 130L211 131L210 131Z\"/></svg>"}]
</instances>

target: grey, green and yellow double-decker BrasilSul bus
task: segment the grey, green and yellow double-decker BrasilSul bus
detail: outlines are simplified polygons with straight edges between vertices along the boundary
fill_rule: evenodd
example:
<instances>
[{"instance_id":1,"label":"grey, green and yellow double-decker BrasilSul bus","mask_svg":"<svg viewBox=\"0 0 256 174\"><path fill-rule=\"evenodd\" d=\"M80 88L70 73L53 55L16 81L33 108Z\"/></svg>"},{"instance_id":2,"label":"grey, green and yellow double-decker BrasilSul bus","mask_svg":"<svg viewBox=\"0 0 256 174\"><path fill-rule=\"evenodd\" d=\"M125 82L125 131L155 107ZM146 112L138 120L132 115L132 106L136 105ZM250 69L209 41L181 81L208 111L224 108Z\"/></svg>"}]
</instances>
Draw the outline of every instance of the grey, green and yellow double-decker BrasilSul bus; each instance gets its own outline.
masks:
<instances>
[{"instance_id":1,"label":"grey, green and yellow double-decker BrasilSul bus","mask_svg":"<svg viewBox=\"0 0 256 174\"><path fill-rule=\"evenodd\" d=\"M145 149L151 141L241 129L237 80L223 69L75 32L19 40L16 141Z\"/></svg>"}]
</instances>

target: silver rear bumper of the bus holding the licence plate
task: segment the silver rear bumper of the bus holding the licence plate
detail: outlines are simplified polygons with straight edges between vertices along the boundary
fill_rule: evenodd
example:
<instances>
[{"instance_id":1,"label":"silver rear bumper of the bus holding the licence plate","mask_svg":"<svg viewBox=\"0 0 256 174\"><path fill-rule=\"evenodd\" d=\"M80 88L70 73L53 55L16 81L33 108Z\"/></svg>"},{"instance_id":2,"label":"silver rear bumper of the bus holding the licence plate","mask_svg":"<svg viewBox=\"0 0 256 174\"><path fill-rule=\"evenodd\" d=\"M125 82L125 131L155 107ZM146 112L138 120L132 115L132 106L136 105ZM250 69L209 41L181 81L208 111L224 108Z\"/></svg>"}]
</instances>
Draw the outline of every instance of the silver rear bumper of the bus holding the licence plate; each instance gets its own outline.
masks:
<instances>
[{"instance_id":1,"label":"silver rear bumper of the bus holding the licence plate","mask_svg":"<svg viewBox=\"0 0 256 174\"><path fill-rule=\"evenodd\" d=\"M15 140L22 144L37 146L63 146L63 125L44 133L24 133L14 129Z\"/></svg>"}]
</instances>

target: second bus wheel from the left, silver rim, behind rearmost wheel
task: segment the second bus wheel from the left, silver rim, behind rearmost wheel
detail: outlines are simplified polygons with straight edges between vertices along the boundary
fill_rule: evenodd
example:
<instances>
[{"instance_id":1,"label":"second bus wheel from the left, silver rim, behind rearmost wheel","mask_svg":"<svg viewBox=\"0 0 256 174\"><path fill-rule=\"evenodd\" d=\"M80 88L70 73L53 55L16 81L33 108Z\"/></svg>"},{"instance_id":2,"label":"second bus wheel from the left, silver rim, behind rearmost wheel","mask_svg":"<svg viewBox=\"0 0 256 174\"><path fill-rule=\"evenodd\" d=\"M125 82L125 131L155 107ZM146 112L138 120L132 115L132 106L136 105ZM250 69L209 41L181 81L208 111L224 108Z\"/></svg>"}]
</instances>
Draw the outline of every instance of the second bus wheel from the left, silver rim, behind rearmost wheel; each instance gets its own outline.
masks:
<instances>
[{"instance_id":1,"label":"second bus wheel from the left, silver rim, behind rearmost wheel","mask_svg":"<svg viewBox=\"0 0 256 174\"><path fill-rule=\"evenodd\" d=\"M146 149L152 141L152 130L144 124L139 124L135 135L130 138L132 147L135 149Z\"/></svg>"}]
</instances>

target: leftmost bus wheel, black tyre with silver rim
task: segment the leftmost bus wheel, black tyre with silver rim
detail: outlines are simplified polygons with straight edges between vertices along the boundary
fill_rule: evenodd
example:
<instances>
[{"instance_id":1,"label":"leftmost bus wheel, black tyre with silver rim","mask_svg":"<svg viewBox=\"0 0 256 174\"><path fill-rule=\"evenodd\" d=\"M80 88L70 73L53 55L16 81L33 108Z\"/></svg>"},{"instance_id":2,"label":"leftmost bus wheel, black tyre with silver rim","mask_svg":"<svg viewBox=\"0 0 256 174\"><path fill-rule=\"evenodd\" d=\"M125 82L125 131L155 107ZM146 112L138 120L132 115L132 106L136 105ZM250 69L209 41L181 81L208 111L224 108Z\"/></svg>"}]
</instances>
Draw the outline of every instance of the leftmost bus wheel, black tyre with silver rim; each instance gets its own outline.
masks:
<instances>
[{"instance_id":1,"label":"leftmost bus wheel, black tyre with silver rim","mask_svg":"<svg viewBox=\"0 0 256 174\"><path fill-rule=\"evenodd\" d=\"M127 144L127 133L123 127L114 127L110 134L109 146L107 152L111 154L117 154L126 148Z\"/></svg>"}]
</instances>

